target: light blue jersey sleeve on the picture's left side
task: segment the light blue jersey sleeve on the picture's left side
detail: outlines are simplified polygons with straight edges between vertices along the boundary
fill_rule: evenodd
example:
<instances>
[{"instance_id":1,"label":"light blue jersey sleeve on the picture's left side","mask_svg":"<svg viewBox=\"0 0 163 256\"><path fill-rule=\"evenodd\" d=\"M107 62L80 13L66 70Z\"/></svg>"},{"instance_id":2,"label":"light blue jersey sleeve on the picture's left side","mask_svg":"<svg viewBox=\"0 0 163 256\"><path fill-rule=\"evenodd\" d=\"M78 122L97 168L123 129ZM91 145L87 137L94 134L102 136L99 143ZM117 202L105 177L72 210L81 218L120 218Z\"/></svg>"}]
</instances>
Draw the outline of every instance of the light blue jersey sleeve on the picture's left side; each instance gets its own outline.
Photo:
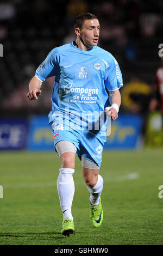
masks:
<instances>
[{"instance_id":1,"label":"light blue jersey sleeve on the picture's left side","mask_svg":"<svg viewBox=\"0 0 163 256\"><path fill-rule=\"evenodd\" d=\"M57 75L58 64L57 56L55 54L55 48L48 53L46 59L40 64L36 69L35 76L41 80L45 81L46 78Z\"/></svg>"}]
</instances>

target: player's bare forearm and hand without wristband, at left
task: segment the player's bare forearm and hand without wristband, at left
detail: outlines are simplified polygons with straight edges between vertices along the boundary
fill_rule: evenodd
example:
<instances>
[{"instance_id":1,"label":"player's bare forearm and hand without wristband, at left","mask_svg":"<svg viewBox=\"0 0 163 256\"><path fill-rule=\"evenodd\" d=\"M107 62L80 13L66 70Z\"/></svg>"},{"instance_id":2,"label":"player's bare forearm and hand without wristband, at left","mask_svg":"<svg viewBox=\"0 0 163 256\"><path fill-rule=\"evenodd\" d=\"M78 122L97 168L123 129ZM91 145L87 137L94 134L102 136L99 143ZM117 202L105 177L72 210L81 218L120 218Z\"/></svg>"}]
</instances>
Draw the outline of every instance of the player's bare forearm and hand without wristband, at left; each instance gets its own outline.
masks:
<instances>
[{"instance_id":1,"label":"player's bare forearm and hand without wristband, at left","mask_svg":"<svg viewBox=\"0 0 163 256\"><path fill-rule=\"evenodd\" d=\"M29 92L27 93L27 97L29 100L37 100L40 94L41 94L41 85L42 82L36 77L34 76L32 78L32 80L30 80L29 83Z\"/></svg>"}]
</instances>

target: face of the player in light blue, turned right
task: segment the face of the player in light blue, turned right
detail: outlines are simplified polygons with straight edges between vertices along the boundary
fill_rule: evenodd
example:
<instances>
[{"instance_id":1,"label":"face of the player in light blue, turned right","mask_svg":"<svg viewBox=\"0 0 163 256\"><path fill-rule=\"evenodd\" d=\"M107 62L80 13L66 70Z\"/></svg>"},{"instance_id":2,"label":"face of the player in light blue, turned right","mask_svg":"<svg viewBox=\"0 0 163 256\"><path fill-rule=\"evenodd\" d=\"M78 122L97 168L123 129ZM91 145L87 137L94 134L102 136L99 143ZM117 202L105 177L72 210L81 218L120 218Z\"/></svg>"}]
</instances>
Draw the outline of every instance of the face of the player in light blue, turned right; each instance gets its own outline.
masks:
<instances>
[{"instance_id":1,"label":"face of the player in light blue, turned right","mask_svg":"<svg viewBox=\"0 0 163 256\"><path fill-rule=\"evenodd\" d=\"M85 46L96 46L99 39L99 21L97 19L85 20L80 35Z\"/></svg>"}]
</instances>

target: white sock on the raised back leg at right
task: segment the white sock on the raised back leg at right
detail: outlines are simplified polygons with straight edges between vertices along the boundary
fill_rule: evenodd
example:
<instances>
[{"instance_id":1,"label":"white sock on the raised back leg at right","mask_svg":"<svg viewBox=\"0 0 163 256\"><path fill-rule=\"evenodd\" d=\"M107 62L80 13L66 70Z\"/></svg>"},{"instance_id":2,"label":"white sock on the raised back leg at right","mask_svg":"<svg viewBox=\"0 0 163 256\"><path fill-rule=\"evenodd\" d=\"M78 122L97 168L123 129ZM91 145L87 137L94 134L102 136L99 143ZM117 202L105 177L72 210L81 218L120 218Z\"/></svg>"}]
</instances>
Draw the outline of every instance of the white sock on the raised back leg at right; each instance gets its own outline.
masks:
<instances>
[{"instance_id":1,"label":"white sock on the raised back leg at right","mask_svg":"<svg viewBox=\"0 0 163 256\"><path fill-rule=\"evenodd\" d=\"M86 184L85 184L86 185ZM92 205L99 204L99 198L101 197L101 193L103 190L103 178L98 174L98 180L95 187L87 186L87 189L90 192L90 202Z\"/></svg>"}]
</instances>

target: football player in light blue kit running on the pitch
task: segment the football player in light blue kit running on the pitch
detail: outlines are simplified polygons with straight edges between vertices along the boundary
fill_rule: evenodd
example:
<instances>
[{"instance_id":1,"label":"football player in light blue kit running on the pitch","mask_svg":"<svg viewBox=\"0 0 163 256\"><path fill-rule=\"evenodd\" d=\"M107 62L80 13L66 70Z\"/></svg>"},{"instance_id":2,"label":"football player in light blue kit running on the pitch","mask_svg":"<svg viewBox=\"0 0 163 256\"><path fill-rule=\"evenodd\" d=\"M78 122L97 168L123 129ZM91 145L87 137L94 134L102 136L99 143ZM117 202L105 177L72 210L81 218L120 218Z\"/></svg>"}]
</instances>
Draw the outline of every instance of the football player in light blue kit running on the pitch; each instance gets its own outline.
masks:
<instances>
[{"instance_id":1,"label":"football player in light blue kit running on the pitch","mask_svg":"<svg viewBox=\"0 0 163 256\"><path fill-rule=\"evenodd\" d=\"M103 221L103 178L99 168L106 141L106 115L117 119L121 105L121 70L111 53L97 46L99 28L95 15L80 14L74 21L76 40L48 54L30 81L27 94L29 100L37 100L42 82L55 76L49 124L61 161L57 188L63 213L61 234L67 236L74 234L71 206L76 154L82 161L90 193L91 224L97 228Z\"/></svg>"}]
</instances>

